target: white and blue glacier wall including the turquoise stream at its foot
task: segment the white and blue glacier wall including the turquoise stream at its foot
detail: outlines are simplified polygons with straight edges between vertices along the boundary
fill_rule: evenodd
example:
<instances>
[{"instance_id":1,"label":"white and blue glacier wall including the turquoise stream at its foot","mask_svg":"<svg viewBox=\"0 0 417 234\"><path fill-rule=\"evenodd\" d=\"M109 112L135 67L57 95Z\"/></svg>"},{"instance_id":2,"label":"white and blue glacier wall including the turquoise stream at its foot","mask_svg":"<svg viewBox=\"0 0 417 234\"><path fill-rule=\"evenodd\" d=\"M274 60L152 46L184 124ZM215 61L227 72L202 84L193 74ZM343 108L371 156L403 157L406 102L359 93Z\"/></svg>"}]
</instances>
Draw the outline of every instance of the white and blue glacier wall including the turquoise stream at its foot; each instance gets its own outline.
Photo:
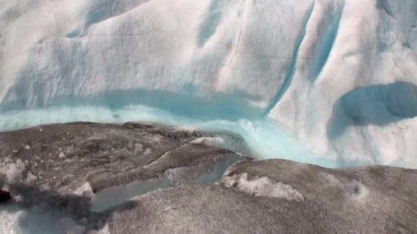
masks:
<instances>
[{"instance_id":1,"label":"white and blue glacier wall including the turquoise stream at its foot","mask_svg":"<svg viewBox=\"0 0 417 234\"><path fill-rule=\"evenodd\" d=\"M152 121L417 168L415 0L0 0L0 131Z\"/></svg>"}]
</instances>

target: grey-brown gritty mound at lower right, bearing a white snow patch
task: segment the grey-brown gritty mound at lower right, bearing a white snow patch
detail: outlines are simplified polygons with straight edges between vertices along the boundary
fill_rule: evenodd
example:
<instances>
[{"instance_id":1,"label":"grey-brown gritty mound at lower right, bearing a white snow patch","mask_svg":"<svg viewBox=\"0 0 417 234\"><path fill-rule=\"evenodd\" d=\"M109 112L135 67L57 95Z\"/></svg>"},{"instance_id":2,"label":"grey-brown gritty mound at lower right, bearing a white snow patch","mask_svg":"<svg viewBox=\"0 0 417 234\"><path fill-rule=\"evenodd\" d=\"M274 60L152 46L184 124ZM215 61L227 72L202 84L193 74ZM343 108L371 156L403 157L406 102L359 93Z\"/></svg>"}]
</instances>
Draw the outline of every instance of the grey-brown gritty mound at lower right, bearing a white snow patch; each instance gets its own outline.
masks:
<instances>
[{"instance_id":1,"label":"grey-brown gritty mound at lower right, bearing a white snow patch","mask_svg":"<svg viewBox=\"0 0 417 234\"><path fill-rule=\"evenodd\" d=\"M416 185L402 168L241 161L219 185L146 194L108 223L111 233L416 233Z\"/></svg>"}]
</instances>

